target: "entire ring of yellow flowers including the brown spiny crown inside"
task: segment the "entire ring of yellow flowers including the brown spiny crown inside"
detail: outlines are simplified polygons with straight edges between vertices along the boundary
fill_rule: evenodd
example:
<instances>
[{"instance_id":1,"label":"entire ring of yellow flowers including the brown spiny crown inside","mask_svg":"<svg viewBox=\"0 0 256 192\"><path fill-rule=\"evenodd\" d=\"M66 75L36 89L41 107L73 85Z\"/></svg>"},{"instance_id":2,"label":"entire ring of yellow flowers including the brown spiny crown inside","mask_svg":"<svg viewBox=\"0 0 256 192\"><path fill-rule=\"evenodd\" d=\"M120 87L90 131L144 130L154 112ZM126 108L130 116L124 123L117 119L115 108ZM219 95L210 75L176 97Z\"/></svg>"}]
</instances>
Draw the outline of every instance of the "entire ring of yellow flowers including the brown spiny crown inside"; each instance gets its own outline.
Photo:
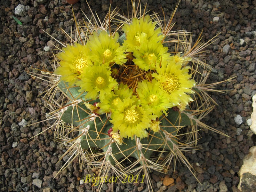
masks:
<instances>
[{"instance_id":1,"label":"entire ring of yellow flowers including the brown spiny crown inside","mask_svg":"<svg viewBox=\"0 0 256 192\"><path fill-rule=\"evenodd\" d=\"M117 32L98 30L83 45L63 48L55 71L69 86L86 92L84 99L99 98L96 113L109 114L110 135L119 138L118 144L120 138L158 132L159 118L172 107L186 109L196 84L186 65L188 58L168 52L165 36L148 15L133 18L122 30L126 36L122 44Z\"/></svg>"}]
</instances>

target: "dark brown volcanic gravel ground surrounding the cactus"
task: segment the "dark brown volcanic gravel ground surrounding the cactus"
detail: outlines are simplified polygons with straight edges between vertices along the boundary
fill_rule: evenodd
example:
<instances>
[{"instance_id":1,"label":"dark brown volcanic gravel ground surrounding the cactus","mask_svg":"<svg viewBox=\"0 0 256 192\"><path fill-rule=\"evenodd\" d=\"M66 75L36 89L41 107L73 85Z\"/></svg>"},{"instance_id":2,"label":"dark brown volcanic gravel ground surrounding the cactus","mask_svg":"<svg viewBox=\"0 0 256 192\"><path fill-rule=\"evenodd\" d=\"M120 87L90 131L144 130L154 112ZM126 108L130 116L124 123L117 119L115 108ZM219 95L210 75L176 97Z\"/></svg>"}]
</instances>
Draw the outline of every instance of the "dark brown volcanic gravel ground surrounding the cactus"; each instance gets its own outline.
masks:
<instances>
[{"instance_id":1,"label":"dark brown volcanic gravel ground surrounding the cactus","mask_svg":"<svg viewBox=\"0 0 256 192\"><path fill-rule=\"evenodd\" d=\"M146 2L141 1L143 6ZM162 6L168 19L176 3L151 0L148 9L161 13ZM90 0L89 4L103 18L110 3ZM116 6L127 14L124 1L113 0L112 7ZM45 130L45 123L24 127L44 120L48 111L38 97L44 85L25 71L51 70L52 43L57 42L44 31L65 41L60 28L70 32L70 26L74 25L71 6L65 0L1 0L0 7L0 191L94 191L91 184L80 185L87 170L80 171L77 161L53 179L66 160L57 163L65 151L63 145L53 141L51 130L29 140ZM255 0L181 1L174 17L175 30L193 32L196 39L204 29L204 41L220 33L219 39L206 51L206 62L213 67L208 83L236 76L217 87L230 92L212 93L219 106L205 119L206 124L230 138L202 131L198 145L202 149L186 154L202 185L184 165L177 164L173 173L172 164L167 176L174 183L165 186L166 175L153 172L154 191L239 191L238 171L249 148L256 145L256 137L247 122L252 113L252 96L256 93L255 7ZM90 16L87 4L81 0L74 5L77 20L82 20L80 8ZM23 25L18 25L12 16ZM147 187L146 184L104 184L103 190L147 191Z\"/></svg>"}]
</instances>

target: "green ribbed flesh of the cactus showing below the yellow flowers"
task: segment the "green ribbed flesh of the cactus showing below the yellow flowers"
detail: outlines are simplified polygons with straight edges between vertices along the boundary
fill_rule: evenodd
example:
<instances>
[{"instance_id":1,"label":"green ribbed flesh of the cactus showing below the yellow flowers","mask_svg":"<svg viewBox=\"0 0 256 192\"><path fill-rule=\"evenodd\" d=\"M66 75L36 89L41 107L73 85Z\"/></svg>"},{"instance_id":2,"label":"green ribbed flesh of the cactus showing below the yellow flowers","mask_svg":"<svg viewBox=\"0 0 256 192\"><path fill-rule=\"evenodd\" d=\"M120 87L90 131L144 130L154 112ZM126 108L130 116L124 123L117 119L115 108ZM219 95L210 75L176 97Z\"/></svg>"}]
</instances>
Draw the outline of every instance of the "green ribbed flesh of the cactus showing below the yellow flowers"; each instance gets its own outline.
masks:
<instances>
[{"instance_id":1,"label":"green ribbed flesh of the cactus showing below the yellow flowers","mask_svg":"<svg viewBox=\"0 0 256 192\"><path fill-rule=\"evenodd\" d=\"M83 136L80 137L81 147L83 149L98 148L98 149L102 149L104 152L107 152L109 148L110 140L111 140L107 132L112 127L112 124L107 120L107 116L105 114L100 115L99 117L96 117L96 118L92 116L92 113L90 113L90 110L86 108L86 106L84 105L84 102L85 102L84 95L86 93L79 92L78 91L79 88L77 87L67 88L66 84L63 81L60 81L58 86L63 93L67 94L68 98L73 98L74 100L78 100L78 99L83 100L83 102L80 102L75 107L71 105L72 101L69 100L67 105L68 104L70 105L67 107L67 109L61 116L61 119L65 123L72 123L74 126L79 128L79 130L81 130L79 132L79 135L83 134ZM90 101L90 103L93 104L94 102L97 102L97 101L98 100ZM85 111L87 111L87 113ZM138 160L140 159L141 152L143 153L143 156L145 158L149 159L149 157L154 151L159 151L160 149L164 149L168 151L172 150L173 143L176 144L176 140L175 140L175 136L177 134L176 127L191 125L190 119L184 113L182 113L180 117L182 119L181 122L178 121L179 112L169 109L168 116L166 116L166 119L163 118L161 120L161 124L160 124L161 130L159 130L159 132L156 132L156 133L151 131L149 132L149 135L147 138L143 138L142 140L140 140L140 143L142 144L142 146L145 146L141 148L141 151L136 150L135 146L137 146L138 143L136 142L135 139L126 138L123 140L124 143L120 145L119 148L117 147L116 144L111 145L112 155L115 157L116 160L119 160L124 156L131 156ZM95 122L94 122L94 118L95 118ZM90 128L86 130L86 127L88 125L90 126ZM173 136L172 142L168 139L163 139L166 133L172 134ZM134 148L131 148L131 146L134 146ZM122 152L120 152L120 150ZM115 161L112 156L109 156L108 160L110 160L110 162L113 165L115 164Z\"/></svg>"}]
</instances>

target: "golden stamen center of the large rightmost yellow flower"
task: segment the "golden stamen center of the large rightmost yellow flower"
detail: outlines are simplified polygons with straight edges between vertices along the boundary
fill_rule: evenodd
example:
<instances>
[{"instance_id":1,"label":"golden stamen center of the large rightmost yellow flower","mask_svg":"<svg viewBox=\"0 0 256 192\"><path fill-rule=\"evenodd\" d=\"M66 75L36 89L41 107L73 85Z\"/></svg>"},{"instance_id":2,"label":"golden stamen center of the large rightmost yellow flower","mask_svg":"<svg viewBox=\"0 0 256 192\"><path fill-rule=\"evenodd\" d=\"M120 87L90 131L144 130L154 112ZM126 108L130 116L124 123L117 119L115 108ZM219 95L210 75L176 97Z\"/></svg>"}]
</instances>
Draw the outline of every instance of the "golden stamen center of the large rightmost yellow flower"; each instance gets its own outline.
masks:
<instances>
[{"instance_id":1,"label":"golden stamen center of the large rightmost yellow flower","mask_svg":"<svg viewBox=\"0 0 256 192\"><path fill-rule=\"evenodd\" d=\"M165 82L161 83L161 85L167 93L171 94L180 89L180 80L176 75L167 74L165 78Z\"/></svg>"}]
</instances>

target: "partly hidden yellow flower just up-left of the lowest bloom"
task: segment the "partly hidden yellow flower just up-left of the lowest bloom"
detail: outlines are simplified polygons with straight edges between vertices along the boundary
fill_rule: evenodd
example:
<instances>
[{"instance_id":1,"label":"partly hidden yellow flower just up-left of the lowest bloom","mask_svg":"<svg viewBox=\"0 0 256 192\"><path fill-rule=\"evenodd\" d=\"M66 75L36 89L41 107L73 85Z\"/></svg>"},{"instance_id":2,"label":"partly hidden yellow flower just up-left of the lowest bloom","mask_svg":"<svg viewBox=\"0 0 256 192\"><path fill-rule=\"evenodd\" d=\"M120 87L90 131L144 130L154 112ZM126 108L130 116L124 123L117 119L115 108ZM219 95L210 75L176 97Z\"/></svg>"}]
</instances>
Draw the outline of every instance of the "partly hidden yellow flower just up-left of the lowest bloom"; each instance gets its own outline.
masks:
<instances>
[{"instance_id":1,"label":"partly hidden yellow flower just up-left of the lowest bloom","mask_svg":"<svg viewBox=\"0 0 256 192\"><path fill-rule=\"evenodd\" d=\"M103 101L99 103L100 109L98 110L99 114L103 113L113 113L115 110L118 110L121 105L123 105L124 98L131 98L132 90L128 88L127 85L120 84L117 90L111 92L105 97Z\"/></svg>"}]
</instances>

